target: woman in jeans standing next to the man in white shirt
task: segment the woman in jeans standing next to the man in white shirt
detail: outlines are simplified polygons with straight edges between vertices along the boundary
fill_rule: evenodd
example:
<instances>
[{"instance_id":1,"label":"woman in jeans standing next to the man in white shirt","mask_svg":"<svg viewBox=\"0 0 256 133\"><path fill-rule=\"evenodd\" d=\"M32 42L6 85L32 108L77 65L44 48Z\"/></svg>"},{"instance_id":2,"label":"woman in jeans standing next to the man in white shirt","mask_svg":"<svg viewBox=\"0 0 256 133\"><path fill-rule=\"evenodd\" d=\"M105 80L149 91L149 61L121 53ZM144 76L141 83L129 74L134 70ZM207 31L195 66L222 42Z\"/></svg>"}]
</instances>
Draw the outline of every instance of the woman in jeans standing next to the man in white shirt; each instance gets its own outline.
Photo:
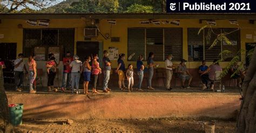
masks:
<instances>
[{"instance_id":1,"label":"woman in jeans standing next to the man in white shirt","mask_svg":"<svg viewBox=\"0 0 256 133\"><path fill-rule=\"evenodd\" d=\"M147 89L149 90L154 90L154 88L151 86L151 82L154 74L154 67L158 65L158 64L154 64L153 58L154 58L154 53L150 52L149 57L147 58L147 66L149 67L148 69L149 79L147 81Z\"/></svg>"}]
</instances>

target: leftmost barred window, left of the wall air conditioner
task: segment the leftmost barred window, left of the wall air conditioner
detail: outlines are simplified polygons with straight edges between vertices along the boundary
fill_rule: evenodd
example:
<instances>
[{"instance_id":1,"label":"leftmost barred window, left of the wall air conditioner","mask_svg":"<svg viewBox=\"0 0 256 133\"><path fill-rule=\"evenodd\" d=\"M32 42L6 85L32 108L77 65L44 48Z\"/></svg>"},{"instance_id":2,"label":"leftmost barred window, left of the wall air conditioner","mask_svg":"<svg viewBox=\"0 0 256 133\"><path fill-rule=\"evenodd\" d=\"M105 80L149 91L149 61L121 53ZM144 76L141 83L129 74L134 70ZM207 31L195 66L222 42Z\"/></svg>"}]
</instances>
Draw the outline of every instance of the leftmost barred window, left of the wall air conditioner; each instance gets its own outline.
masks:
<instances>
[{"instance_id":1,"label":"leftmost barred window, left of the wall air conditioner","mask_svg":"<svg viewBox=\"0 0 256 133\"><path fill-rule=\"evenodd\" d=\"M62 46L61 53L65 54L66 51L70 51L73 54L74 43L75 29L73 28L23 29L23 54L25 57L33 53L33 48L39 46ZM47 59L47 57L45 58Z\"/></svg>"}]
</instances>

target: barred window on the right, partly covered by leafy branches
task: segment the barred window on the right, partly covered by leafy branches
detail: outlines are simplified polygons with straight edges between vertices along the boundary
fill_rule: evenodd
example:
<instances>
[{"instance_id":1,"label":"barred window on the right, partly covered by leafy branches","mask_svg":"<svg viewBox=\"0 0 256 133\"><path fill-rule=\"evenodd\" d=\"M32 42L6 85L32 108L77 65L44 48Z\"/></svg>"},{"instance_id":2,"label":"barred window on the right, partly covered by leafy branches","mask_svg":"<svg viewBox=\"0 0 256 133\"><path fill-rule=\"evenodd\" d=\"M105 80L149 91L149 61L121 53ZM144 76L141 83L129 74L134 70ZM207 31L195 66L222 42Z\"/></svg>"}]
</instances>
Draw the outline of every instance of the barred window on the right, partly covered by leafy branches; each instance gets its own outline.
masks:
<instances>
[{"instance_id":1,"label":"barred window on the right, partly covered by leafy branches","mask_svg":"<svg viewBox=\"0 0 256 133\"><path fill-rule=\"evenodd\" d=\"M187 44L188 44L188 60L189 61L213 61L217 58L223 58L225 61L230 61L238 52L240 48L240 31L235 31L235 28L210 28L204 29L199 35L199 28L188 28L187 29ZM234 31L234 32L233 32ZM207 39L207 34L211 32L211 39ZM214 33L213 33L214 32ZM232 42L232 45L226 45L226 43L221 40L211 49L208 49L213 41L217 38L217 34L229 33L226 35L228 39ZM230 50L232 53L223 54L219 56L220 52L223 50Z\"/></svg>"}]
</instances>

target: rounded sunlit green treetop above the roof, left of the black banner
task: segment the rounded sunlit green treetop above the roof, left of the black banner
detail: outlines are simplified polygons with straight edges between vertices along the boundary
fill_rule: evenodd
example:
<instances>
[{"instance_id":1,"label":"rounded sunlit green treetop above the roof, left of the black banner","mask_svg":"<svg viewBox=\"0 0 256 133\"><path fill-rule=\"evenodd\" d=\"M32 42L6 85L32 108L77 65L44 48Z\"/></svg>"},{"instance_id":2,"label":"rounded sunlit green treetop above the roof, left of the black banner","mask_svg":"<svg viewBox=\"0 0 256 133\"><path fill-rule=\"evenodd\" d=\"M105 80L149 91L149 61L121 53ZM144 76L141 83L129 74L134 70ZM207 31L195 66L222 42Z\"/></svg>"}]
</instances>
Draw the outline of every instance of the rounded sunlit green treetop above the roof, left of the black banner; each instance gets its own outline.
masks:
<instances>
[{"instance_id":1,"label":"rounded sunlit green treetop above the roof, left of the black banner","mask_svg":"<svg viewBox=\"0 0 256 133\"><path fill-rule=\"evenodd\" d=\"M126 13L153 13L153 7L150 5L133 4L127 8Z\"/></svg>"}]
</instances>

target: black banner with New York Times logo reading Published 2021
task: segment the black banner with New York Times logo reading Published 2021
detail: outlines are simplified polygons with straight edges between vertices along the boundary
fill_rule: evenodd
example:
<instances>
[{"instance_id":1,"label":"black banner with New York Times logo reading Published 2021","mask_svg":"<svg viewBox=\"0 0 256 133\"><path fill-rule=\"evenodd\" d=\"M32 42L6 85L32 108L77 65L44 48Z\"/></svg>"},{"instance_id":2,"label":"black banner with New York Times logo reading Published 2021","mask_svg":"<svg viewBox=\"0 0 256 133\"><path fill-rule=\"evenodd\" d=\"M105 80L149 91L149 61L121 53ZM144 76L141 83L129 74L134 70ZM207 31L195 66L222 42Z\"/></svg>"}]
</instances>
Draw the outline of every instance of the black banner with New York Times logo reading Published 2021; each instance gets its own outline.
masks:
<instances>
[{"instance_id":1,"label":"black banner with New York Times logo reading Published 2021","mask_svg":"<svg viewBox=\"0 0 256 133\"><path fill-rule=\"evenodd\" d=\"M250 0L167 0L167 13L256 13Z\"/></svg>"}]
</instances>

